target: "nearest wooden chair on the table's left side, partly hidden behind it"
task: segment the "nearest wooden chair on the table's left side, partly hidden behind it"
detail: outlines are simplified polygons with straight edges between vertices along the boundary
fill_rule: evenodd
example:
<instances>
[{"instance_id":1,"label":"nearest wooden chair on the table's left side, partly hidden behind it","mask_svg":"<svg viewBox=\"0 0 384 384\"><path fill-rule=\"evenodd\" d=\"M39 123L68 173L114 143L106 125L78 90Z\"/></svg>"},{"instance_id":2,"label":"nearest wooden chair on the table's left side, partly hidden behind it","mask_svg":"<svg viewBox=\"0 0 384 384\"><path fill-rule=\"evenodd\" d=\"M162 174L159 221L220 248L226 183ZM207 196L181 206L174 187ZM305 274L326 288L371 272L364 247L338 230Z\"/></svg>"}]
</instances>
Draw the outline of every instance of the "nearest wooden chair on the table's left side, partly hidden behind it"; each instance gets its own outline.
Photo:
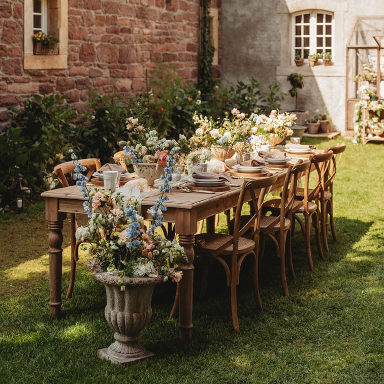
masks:
<instances>
[{"instance_id":1,"label":"nearest wooden chair on the table's left side, partly hidden behind it","mask_svg":"<svg viewBox=\"0 0 384 384\"><path fill-rule=\"evenodd\" d=\"M99 158L84 158L79 159L80 164L85 167L88 172L86 177L89 178L92 176L93 172L99 171L100 159ZM53 168L53 174L57 177L57 180L63 187L69 186L67 179L68 175L71 175L75 170L75 166L72 162L66 162L58 164ZM68 291L66 299L72 296L73 287L75 285L75 276L76 276L76 262L79 260L78 248L81 241L76 242L76 216L74 213L70 213L70 226L71 226L71 272L70 272L70 282L68 286Z\"/></svg>"}]
</instances>

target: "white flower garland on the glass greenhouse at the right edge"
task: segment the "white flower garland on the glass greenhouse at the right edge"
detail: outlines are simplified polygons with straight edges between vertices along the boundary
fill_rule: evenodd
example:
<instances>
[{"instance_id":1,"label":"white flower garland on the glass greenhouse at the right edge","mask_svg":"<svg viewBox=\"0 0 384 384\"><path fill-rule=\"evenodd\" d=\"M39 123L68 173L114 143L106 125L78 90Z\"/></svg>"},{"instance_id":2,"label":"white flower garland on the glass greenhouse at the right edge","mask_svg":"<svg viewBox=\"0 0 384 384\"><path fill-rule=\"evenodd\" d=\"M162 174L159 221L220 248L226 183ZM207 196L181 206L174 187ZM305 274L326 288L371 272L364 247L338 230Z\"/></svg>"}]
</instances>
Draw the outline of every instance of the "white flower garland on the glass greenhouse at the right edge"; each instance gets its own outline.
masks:
<instances>
[{"instance_id":1,"label":"white flower garland on the glass greenhouse at the right edge","mask_svg":"<svg viewBox=\"0 0 384 384\"><path fill-rule=\"evenodd\" d=\"M380 124L381 111L384 110L383 101L380 100L360 100L355 105L354 115L354 131L355 131L355 143L362 142L362 135L364 130L363 110L367 110L368 119L366 127L371 127Z\"/></svg>"}]
</instances>

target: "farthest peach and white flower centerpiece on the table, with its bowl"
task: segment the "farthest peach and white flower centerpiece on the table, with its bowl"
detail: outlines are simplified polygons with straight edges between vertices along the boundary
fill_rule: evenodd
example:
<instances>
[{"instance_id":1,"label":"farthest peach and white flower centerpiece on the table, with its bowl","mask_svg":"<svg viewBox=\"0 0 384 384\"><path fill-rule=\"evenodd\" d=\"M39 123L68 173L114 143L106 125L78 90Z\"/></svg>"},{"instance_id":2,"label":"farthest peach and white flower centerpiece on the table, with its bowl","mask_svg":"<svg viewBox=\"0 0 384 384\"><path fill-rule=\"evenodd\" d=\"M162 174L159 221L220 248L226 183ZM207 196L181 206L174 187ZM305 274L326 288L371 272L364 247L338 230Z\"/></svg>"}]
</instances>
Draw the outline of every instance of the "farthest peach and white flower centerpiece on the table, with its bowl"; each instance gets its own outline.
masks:
<instances>
[{"instance_id":1,"label":"farthest peach and white flower centerpiece on the table, with its bowl","mask_svg":"<svg viewBox=\"0 0 384 384\"><path fill-rule=\"evenodd\" d=\"M265 143L274 145L277 141L281 142L286 136L291 136L292 124L296 119L294 113L278 113L273 109L269 116L253 113L250 118L253 121L253 136L261 136Z\"/></svg>"}]
</instances>

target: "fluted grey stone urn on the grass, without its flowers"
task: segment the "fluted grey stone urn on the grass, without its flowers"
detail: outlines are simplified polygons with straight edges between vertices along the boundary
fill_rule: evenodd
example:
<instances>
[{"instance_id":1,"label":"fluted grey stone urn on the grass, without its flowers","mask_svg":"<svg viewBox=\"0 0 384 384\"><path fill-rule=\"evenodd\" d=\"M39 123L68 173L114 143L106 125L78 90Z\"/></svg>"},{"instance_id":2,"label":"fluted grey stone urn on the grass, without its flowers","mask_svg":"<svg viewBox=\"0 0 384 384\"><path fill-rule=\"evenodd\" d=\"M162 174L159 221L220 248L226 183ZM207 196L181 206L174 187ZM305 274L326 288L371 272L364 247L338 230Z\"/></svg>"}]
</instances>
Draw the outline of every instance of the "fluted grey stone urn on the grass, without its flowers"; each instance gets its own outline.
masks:
<instances>
[{"instance_id":1,"label":"fluted grey stone urn on the grass, without its flowers","mask_svg":"<svg viewBox=\"0 0 384 384\"><path fill-rule=\"evenodd\" d=\"M115 331L109 347L98 350L98 357L117 365L126 365L154 356L139 342L141 330L152 317L152 294L163 276L124 277L121 291L119 276L95 272L96 280L105 285L107 306L104 313L108 324Z\"/></svg>"}]
</instances>

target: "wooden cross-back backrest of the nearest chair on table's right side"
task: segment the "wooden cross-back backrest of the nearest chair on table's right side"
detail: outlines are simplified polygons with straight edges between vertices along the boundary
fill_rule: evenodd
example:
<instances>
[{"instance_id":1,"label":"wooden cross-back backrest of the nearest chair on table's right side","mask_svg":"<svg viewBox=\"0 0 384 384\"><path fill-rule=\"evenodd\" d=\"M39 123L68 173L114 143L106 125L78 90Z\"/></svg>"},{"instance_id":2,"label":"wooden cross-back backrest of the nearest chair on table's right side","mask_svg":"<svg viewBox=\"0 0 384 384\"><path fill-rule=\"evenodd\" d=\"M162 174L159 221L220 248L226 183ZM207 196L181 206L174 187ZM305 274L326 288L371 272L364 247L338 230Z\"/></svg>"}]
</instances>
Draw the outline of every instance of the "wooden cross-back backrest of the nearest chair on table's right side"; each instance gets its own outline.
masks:
<instances>
[{"instance_id":1,"label":"wooden cross-back backrest of the nearest chair on table's right side","mask_svg":"<svg viewBox=\"0 0 384 384\"><path fill-rule=\"evenodd\" d=\"M233 254L236 254L240 237L244 236L245 233L249 234L250 231L252 231L251 234L253 237L257 235L260 228L262 201L264 201L266 191L277 181L277 178L278 175L276 174L244 181L235 209L233 235L225 244L221 245L215 251L215 254L220 254L230 245L233 246ZM249 216L242 216L242 208L246 202L250 205L251 214Z\"/></svg>"}]
</instances>

